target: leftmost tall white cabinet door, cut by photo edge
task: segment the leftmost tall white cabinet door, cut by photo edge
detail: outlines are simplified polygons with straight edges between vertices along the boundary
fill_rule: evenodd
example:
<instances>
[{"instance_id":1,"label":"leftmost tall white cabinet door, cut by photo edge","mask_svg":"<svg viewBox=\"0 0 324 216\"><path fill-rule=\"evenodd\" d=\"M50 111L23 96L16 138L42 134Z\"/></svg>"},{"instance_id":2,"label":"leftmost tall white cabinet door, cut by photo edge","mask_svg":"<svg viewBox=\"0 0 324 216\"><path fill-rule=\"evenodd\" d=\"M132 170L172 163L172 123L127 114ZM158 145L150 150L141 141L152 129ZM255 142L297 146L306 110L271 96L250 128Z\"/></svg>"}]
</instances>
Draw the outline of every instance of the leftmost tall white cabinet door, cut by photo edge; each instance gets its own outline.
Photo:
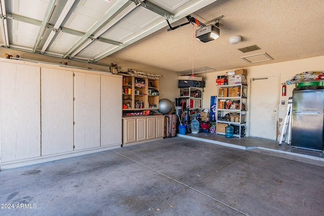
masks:
<instances>
[{"instance_id":1,"label":"leftmost tall white cabinet door, cut by photo edge","mask_svg":"<svg viewBox=\"0 0 324 216\"><path fill-rule=\"evenodd\" d=\"M0 65L1 162L41 156L40 69Z\"/></svg>"}]
</instances>

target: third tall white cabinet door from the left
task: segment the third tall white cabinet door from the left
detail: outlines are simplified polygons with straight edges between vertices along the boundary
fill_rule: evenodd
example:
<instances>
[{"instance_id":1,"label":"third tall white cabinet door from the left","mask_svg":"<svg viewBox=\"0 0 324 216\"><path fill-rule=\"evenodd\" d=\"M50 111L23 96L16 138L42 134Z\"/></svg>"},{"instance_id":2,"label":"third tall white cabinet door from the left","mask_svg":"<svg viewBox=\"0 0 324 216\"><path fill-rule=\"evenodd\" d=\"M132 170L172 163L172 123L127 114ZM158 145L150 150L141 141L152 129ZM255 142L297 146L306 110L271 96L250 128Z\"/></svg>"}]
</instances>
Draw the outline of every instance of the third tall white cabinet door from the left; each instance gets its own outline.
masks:
<instances>
[{"instance_id":1,"label":"third tall white cabinet door from the left","mask_svg":"<svg viewBox=\"0 0 324 216\"><path fill-rule=\"evenodd\" d=\"M100 75L75 72L75 150L100 146Z\"/></svg>"}]
</instances>

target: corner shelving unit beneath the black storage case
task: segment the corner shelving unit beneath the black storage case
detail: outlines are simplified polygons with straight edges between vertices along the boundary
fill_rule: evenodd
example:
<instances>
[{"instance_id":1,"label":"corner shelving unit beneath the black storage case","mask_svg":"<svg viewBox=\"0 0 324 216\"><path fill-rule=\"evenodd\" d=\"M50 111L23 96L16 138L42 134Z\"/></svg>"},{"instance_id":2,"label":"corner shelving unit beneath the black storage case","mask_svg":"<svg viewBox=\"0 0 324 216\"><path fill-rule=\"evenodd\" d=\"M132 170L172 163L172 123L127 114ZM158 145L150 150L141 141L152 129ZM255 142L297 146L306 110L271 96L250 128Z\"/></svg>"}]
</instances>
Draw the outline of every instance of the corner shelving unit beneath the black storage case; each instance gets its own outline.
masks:
<instances>
[{"instance_id":1,"label":"corner shelving unit beneath the black storage case","mask_svg":"<svg viewBox=\"0 0 324 216\"><path fill-rule=\"evenodd\" d=\"M186 102L190 110L201 109L203 104L203 88L198 87L183 87L179 88L180 102Z\"/></svg>"}]
</instances>

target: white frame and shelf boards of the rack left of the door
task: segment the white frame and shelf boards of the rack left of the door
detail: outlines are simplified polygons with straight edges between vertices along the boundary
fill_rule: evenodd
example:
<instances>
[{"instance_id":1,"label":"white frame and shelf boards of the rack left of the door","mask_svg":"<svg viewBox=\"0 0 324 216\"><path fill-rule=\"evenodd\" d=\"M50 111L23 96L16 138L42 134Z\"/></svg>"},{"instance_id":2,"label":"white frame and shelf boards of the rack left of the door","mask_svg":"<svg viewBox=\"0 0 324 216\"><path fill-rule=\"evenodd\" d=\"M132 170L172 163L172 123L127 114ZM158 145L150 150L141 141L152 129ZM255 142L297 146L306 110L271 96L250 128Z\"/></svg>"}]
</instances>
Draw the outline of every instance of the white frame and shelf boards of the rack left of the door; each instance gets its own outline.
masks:
<instances>
[{"instance_id":1,"label":"white frame and shelf boards of the rack left of the door","mask_svg":"<svg viewBox=\"0 0 324 216\"><path fill-rule=\"evenodd\" d=\"M234 137L244 137L245 133L242 133L242 125L246 125L246 113L247 113L247 85L246 84L231 84L231 85L217 85L217 93L220 93L220 89L227 89L227 92L230 88L239 88L239 95L233 97L217 97L217 123L225 123L238 125L238 134L234 134ZM226 92L226 91L225 91ZM235 109L231 109L230 107L220 108L220 105L224 102L226 105L226 101L238 101L239 105L236 105ZM243 105L244 104L244 105ZM225 116L227 113L237 113L236 119L237 121L228 121L228 120L219 120L219 117ZM243 121L241 119L244 118ZM233 118L234 120L234 118ZM225 135L225 133L217 132L217 134Z\"/></svg>"}]
</instances>

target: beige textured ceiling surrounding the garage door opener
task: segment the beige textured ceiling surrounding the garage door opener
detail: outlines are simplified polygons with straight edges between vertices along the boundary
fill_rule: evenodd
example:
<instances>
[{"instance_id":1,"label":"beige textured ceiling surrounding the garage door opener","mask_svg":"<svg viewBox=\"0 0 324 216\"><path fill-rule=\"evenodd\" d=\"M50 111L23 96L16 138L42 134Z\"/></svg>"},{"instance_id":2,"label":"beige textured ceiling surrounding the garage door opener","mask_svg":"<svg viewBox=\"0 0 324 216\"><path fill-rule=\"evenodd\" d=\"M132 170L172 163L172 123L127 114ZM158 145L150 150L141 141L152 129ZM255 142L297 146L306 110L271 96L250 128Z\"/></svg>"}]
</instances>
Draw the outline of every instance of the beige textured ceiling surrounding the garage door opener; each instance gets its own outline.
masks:
<instances>
[{"instance_id":1,"label":"beige textured ceiling surrounding the garage door opener","mask_svg":"<svg viewBox=\"0 0 324 216\"><path fill-rule=\"evenodd\" d=\"M184 71L192 69L193 56L193 68L221 71L324 55L324 1L218 0L191 14L202 22L221 15L220 36L214 41L193 40L191 24L173 31L165 27L110 57ZM234 35L242 40L231 45L228 40ZM237 50L252 45L261 50ZM273 60L249 63L241 59L261 53Z\"/></svg>"}]
</instances>

